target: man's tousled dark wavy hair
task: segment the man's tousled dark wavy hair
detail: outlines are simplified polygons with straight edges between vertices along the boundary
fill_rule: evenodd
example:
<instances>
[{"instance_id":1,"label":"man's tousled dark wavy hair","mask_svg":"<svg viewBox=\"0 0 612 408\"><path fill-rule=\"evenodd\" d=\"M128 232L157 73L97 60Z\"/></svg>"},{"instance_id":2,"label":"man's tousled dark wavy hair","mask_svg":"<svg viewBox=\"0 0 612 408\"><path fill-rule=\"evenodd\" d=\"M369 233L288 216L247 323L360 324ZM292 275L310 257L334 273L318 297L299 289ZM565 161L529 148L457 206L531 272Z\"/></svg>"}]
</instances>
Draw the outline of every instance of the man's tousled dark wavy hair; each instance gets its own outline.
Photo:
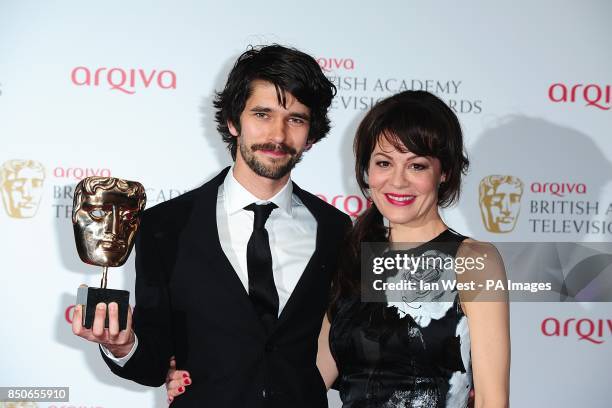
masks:
<instances>
[{"instance_id":1,"label":"man's tousled dark wavy hair","mask_svg":"<svg viewBox=\"0 0 612 408\"><path fill-rule=\"evenodd\" d=\"M217 130L236 159L237 141L227 126L230 121L240 132L240 114L251 95L254 80L271 82L276 87L278 103L285 107L289 92L310 108L308 140L316 143L329 132L327 110L336 95L332 84L314 58L295 48L278 44L251 47L238 60L227 78L225 88L213 102Z\"/></svg>"}]
</instances>

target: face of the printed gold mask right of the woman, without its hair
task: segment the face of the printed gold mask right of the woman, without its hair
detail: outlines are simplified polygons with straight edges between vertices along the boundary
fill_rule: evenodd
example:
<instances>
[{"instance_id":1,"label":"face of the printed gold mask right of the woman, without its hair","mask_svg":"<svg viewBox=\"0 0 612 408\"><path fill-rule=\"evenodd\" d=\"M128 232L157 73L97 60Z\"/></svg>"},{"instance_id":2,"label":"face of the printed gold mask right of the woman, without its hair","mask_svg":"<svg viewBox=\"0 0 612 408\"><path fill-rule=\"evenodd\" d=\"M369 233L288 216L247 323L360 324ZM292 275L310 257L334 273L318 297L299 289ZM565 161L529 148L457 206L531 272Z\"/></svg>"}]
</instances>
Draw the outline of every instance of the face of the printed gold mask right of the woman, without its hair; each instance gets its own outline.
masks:
<instances>
[{"instance_id":1,"label":"face of the printed gold mask right of the woman, without its hair","mask_svg":"<svg viewBox=\"0 0 612 408\"><path fill-rule=\"evenodd\" d=\"M485 226L491 232L510 232L514 229L521 208L519 186L502 183L484 197L481 203Z\"/></svg>"}]
</instances>

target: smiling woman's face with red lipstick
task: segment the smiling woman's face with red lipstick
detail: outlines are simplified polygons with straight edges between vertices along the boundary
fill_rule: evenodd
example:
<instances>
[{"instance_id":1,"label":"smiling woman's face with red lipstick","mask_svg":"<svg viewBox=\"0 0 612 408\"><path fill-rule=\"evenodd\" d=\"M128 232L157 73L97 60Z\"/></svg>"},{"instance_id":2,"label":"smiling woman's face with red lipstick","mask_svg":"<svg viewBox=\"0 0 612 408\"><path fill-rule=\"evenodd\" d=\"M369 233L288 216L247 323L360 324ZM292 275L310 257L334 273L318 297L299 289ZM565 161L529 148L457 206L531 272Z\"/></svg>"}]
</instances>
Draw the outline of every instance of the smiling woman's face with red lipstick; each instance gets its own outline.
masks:
<instances>
[{"instance_id":1,"label":"smiling woman's face with red lipstick","mask_svg":"<svg viewBox=\"0 0 612 408\"><path fill-rule=\"evenodd\" d=\"M381 137L370 156L368 183L376 207L391 224L419 226L438 217L440 160L398 151Z\"/></svg>"}]
</instances>

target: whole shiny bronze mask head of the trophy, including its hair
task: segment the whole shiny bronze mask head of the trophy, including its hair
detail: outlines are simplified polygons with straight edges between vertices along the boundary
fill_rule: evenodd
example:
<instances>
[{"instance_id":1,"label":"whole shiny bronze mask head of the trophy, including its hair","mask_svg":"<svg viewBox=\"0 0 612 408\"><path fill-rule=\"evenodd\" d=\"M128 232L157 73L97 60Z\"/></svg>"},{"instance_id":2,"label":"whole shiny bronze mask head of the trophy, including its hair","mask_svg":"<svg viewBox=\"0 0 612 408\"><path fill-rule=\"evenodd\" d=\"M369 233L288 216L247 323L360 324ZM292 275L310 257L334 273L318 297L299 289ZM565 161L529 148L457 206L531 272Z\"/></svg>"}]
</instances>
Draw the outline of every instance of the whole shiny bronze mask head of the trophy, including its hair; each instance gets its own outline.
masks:
<instances>
[{"instance_id":1,"label":"whole shiny bronze mask head of the trophy, including its hair","mask_svg":"<svg viewBox=\"0 0 612 408\"><path fill-rule=\"evenodd\" d=\"M87 177L74 190L72 223L77 251L90 265L121 266L128 258L146 204L135 181Z\"/></svg>"}]
</instances>

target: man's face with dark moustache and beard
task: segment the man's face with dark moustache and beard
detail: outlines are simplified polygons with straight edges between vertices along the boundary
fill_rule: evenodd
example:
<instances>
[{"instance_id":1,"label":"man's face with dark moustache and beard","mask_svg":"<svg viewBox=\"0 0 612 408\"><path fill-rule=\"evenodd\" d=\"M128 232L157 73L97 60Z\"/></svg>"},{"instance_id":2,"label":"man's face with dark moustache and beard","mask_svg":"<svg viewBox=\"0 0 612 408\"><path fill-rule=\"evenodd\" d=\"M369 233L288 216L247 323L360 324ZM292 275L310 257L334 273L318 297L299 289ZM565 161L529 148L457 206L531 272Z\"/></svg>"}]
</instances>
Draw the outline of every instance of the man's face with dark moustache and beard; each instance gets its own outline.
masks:
<instances>
[{"instance_id":1,"label":"man's face with dark moustache and beard","mask_svg":"<svg viewBox=\"0 0 612 408\"><path fill-rule=\"evenodd\" d=\"M310 109L286 92L286 107L278 103L275 86L256 80L240 115L241 131L228 123L238 138L236 161L244 161L257 175L281 179L310 147Z\"/></svg>"}]
</instances>

